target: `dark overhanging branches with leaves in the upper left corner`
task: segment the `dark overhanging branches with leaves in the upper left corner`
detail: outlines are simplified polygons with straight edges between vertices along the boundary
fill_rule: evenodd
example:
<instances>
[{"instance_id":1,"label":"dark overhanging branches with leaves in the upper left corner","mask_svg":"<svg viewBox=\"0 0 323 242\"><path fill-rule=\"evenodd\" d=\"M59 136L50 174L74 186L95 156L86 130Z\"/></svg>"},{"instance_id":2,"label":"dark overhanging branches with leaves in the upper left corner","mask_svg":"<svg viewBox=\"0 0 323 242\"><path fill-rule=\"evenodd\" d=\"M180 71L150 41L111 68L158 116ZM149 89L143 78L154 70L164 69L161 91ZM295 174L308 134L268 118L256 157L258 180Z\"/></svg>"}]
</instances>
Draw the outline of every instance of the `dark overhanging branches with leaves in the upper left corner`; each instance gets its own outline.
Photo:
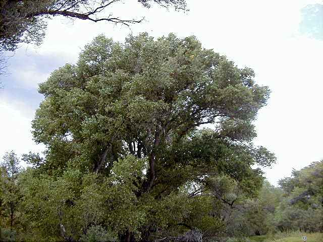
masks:
<instances>
[{"instance_id":1,"label":"dark overhanging branches with leaves in the upper left corner","mask_svg":"<svg viewBox=\"0 0 323 242\"><path fill-rule=\"evenodd\" d=\"M45 37L47 21L63 16L92 22L106 21L129 26L140 23L141 19L131 16L118 17L112 13L104 14L120 0L0 0L0 75L6 73L6 51L15 51L21 43L40 45ZM186 11L185 0L140 0L144 8L151 3L161 7L172 7ZM0 89L3 88L0 82Z\"/></svg>"}]
</instances>

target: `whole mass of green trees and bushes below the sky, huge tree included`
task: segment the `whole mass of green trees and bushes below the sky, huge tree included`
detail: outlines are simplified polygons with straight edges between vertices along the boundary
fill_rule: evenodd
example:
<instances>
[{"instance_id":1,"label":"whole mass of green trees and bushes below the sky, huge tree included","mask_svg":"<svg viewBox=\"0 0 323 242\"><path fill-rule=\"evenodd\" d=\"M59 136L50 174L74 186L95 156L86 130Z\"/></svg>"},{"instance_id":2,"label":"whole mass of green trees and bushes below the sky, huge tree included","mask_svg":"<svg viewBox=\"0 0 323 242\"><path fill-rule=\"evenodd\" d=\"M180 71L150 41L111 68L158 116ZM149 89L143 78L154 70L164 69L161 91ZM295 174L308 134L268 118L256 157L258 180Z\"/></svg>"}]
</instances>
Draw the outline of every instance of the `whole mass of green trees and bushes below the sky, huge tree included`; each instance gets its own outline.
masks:
<instances>
[{"instance_id":1,"label":"whole mass of green trees and bushes below the sky, huge tree included","mask_svg":"<svg viewBox=\"0 0 323 242\"><path fill-rule=\"evenodd\" d=\"M39 86L32 133L45 152L23 155L27 169L14 152L4 156L1 239L289 241L286 231L321 232L323 161L280 188L264 180L261 168L276 158L254 146L252 122L270 91L253 77L193 36L96 37Z\"/></svg>"}]
</instances>

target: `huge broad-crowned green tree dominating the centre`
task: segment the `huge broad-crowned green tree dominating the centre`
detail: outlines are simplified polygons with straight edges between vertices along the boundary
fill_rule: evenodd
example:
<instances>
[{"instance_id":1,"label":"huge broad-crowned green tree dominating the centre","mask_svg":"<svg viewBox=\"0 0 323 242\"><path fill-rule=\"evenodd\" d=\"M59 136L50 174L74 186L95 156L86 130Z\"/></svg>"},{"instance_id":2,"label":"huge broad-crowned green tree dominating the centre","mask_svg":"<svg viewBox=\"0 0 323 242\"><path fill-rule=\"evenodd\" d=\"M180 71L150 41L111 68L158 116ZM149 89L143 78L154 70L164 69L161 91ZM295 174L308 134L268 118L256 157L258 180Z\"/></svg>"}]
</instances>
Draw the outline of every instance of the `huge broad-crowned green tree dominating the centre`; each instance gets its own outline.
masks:
<instances>
[{"instance_id":1,"label":"huge broad-crowned green tree dominating the centre","mask_svg":"<svg viewBox=\"0 0 323 242\"><path fill-rule=\"evenodd\" d=\"M45 99L33 135L47 150L44 159L29 160L47 178L29 179L26 189L30 201L38 201L30 206L53 216L31 219L47 226L43 231L48 223L61 226L67 239L80 236L74 227L80 221L84 234L99 224L127 241L183 226L220 229L209 212L209 179L227 175L253 196L262 184L262 171L253 165L275 160L252 144L252 121L269 95L253 77L251 69L237 68L195 37L140 34L125 43L96 37L76 65L58 69L39 87ZM80 215L71 223L75 211Z\"/></svg>"}]
</instances>

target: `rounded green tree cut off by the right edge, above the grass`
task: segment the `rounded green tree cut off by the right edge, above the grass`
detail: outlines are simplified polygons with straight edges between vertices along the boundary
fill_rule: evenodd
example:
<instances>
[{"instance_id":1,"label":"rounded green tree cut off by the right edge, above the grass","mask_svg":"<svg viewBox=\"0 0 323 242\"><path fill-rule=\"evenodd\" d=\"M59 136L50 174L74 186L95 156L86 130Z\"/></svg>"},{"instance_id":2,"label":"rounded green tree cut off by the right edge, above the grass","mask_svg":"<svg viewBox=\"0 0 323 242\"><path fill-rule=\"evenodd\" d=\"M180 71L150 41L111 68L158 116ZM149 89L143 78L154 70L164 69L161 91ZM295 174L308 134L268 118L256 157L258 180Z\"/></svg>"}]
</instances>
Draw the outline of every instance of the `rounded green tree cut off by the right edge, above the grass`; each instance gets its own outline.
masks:
<instances>
[{"instance_id":1,"label":"rounded green tree cut off by the right edge, above the grass","mask_svg":"<svg viewBox=\"0 0 323 242\"><path fill-rule=\"evenodd\" d=\"M323 230L323 161L313 162L279 181L285 199L279 206L279 230Z\"/></svg>"}]
</instances>

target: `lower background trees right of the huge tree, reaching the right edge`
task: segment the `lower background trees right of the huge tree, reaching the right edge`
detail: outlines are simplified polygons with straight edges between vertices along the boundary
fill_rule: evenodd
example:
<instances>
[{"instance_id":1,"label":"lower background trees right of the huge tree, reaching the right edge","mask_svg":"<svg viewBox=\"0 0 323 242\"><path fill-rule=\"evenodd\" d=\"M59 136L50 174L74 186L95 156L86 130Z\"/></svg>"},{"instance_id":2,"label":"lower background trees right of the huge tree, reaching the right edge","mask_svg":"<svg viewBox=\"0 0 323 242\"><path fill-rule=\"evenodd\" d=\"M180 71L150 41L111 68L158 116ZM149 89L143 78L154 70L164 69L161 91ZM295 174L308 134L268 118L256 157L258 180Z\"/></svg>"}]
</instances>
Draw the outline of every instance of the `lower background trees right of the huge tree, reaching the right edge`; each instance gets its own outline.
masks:
<instances>
[{"instance_id":1,"label":"lower background trees right of the huge tree, reaching the right edge","mask_svg":"<svg viewBox=\"0 0 323 242\"><path fill-rule=\"evenodd\" d=\"M258 197L241 200L227 221L231 236L322 230L323 162L313 162L292 177L279 181L281 188L265 182ZM257 237L260 238L260 237Z\"/></svg>"}]
</instances>

